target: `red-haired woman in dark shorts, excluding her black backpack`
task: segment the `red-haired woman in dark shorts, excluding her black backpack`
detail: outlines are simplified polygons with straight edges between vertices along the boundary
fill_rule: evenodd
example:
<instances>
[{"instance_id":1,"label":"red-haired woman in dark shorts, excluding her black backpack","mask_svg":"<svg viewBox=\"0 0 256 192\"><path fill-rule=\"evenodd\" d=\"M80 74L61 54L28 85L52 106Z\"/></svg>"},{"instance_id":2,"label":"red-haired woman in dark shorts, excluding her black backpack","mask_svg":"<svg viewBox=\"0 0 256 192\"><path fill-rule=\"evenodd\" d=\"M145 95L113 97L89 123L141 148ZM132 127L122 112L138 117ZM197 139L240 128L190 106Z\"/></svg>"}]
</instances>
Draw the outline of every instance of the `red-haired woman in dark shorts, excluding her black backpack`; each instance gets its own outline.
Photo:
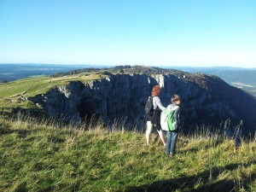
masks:
<instances>
[{"instance_id":1,"label":"red-haired woman in dark shorts, excluding her black backpack","mask_svg":"<svg viewBox=\"0 0 256 192\"><path fill-rule=\"evenodd\" d=\"M160 126L160 113L161 111L165 110L166 108L162 105L160 101L160 85L155 85L152 89L151 96L153 96L153 109L154 112L152 115L147 114L147 131L146 131L146 140L149 146L150 143L150 134L153 128L156 129L160 136L160 140L166 146L165 137L163 135L163 131L161 130Z\"/></svg>"}]
</instances>

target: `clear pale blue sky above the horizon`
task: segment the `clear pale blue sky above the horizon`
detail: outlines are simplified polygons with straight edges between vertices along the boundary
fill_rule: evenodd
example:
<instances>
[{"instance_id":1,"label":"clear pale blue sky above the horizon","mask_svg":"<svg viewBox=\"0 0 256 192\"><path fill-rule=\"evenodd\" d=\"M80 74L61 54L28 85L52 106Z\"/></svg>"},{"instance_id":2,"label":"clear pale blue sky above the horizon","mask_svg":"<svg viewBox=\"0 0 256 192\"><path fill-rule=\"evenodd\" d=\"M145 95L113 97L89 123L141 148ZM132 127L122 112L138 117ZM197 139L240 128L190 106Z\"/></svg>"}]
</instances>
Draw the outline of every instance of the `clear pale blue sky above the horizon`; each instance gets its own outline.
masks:
<instances>
[{"instance_id":1,"label":"clear pale blue sky above the horizon","mask_svg":"<svg viewBox=\"0 0 256 192\"><path fill-rule=\"evenodd\" d=\"M256 67L256 1L0 0L0 63Z\"/></svg>"}]
</instances>

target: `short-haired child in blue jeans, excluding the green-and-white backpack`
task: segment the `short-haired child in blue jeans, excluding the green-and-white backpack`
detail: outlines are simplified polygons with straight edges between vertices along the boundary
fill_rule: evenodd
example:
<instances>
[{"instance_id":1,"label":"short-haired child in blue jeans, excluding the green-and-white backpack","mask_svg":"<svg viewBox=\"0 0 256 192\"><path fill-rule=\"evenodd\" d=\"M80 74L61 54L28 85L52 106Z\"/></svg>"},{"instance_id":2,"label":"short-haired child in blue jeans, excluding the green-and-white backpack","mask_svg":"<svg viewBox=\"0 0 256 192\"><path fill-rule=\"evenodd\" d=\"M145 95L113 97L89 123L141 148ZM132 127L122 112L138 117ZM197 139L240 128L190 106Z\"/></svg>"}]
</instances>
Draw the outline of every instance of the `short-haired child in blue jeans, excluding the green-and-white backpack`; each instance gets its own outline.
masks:
<instances>
[{"instance_id":1,"label":"short-haired child in blue jeans, excluding the green-and-white backpack","mask_svg":"<svg viewBox=\"0 0 256 192\"><path fill-rule=\"evenodd\" d=\"M167 139L166 139L166 155L167 156L173 156L176 154L176 143L177 143L177 133L178 133L178 125L179 125L179 113L180 113L180 104L181 99L180 96L173 95L171 98L172 104L168 105L167 108L176 108L174 110L174 118L177 122L177 129L174 131L167 131Z\"/></svg>"}]
</instances>

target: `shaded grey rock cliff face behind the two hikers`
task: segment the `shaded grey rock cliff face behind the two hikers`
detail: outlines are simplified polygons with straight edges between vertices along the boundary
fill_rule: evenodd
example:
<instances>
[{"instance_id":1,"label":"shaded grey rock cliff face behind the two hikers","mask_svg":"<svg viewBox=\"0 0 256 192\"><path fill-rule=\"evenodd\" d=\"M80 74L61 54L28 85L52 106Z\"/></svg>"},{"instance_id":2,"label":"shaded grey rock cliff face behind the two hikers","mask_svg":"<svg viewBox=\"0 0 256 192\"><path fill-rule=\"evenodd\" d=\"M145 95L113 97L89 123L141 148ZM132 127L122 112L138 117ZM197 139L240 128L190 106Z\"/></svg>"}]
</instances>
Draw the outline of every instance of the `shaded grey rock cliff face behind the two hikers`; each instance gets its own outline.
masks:
<instances>
[{"instance_id":1,"label":"shaded grey rock cliff face behind the two hikers","mask_svg":"<svg viewBox=\"0 0 256 192\"><path fill-rule=\"evenodd\" d=\"M225 119L238 124L243 119L247 130L255 131L255 98L222 79L207 75L191 75L184 79L174 74L109 74L107 78L85 84L71 82L28 99L43 106L49 116L64 116L77 122L93 114L107 121L124 117L143 119L146 101L156 84L162 87L160 100L165 107L173 94L182 97L184 129L191 129L195 124L218 125ZM250 106L245 108L241 100Z\"/></svg>"}]
</instances>

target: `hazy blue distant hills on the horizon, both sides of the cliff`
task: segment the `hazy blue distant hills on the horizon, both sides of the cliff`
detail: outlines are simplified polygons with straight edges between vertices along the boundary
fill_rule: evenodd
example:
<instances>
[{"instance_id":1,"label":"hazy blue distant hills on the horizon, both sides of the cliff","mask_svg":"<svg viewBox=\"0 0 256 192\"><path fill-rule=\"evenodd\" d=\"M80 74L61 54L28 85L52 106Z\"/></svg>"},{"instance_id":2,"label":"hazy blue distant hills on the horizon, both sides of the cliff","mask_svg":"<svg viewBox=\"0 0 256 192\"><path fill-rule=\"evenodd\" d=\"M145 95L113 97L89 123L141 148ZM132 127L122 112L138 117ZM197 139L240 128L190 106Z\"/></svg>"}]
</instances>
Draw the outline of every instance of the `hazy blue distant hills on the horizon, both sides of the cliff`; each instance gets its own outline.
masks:
<instances>
[{"instance_id":1,"label":"hazy blue distant hills on the horizon, both sides of the cliff","mask_svg":"<svg viewBox=\"0 0 256 192\"><path fill-rule=\"evenodd\" d=\"M25 79L33 76L49 76L55 73L69 72L81 68L109 68L109 65L56 65L56 64L32 64L17 63L0 64L0 82ZM256 68L242 67L162 67L172 68L189 73L206 73L216 75L224 79L228 84L245 90L256 96Z\"/></svg>"}]
</instances>

